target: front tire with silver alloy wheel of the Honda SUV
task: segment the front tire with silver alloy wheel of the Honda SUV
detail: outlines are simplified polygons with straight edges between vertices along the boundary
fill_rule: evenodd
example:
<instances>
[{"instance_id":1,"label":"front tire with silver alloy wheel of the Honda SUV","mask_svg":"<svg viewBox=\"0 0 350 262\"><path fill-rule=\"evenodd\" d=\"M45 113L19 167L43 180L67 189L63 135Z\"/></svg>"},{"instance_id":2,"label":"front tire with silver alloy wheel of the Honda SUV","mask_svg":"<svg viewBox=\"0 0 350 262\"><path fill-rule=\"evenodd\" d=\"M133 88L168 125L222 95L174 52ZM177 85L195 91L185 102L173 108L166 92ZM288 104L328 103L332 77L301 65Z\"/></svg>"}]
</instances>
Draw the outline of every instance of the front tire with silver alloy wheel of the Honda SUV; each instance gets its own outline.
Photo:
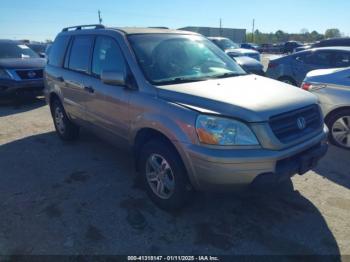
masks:
<instances>
[{"instance_id":1,"label":"front tire with silver alloy wheel of the Honda SUV","mask_svg":"<svg viewBox=\"0 0 350 262\"><path fill-rule=\"evenodd\" d=\"M161 209L178 210L191 199L193 189L185 166L164 139L151 140L142 147L138 168L147 194Z\"/></svg>"}]
</instances>

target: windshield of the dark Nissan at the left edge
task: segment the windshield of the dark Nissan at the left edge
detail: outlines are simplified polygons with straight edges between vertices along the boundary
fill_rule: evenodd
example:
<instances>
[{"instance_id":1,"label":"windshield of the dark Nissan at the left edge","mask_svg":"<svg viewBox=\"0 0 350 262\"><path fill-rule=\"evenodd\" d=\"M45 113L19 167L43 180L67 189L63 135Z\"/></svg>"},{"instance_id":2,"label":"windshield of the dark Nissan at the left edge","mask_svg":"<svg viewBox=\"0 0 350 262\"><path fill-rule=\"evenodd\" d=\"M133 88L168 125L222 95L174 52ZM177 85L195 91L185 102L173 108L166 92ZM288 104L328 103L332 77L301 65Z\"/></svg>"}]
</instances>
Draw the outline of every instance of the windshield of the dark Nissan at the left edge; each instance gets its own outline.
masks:
<instances>
[{"instance_id":1,"label":"windshield of the dark Nissan at the left edge","mask_svg":"<svg viewBox=\"0 0 350 262\"><path fill-rule=\"evenodd\" d=\"M28 46L21 43L0 43L0 58L38 58Z\"/></svg>"}]
</instances>

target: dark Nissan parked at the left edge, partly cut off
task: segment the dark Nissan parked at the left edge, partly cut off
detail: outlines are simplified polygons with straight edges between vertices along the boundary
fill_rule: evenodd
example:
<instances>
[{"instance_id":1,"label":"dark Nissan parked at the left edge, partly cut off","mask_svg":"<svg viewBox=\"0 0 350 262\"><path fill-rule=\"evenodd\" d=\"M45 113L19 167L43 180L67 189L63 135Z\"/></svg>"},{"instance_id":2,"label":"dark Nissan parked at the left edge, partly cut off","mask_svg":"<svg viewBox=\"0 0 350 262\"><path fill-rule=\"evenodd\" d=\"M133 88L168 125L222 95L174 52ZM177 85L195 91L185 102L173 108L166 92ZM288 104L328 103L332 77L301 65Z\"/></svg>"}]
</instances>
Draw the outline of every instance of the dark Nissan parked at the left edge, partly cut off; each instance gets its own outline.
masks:
<instances>
[{"instance_id":1,"label":"dark Nissan parked at the left edge, partly cut off","mask_svg":"<svg viewBox=\"0 0 350 262\"><path fill-rule=\"evenodd\" d=\"M41 94L46 60L22 42L0 40L0 97Z\"/></svg>"}]
</instances>

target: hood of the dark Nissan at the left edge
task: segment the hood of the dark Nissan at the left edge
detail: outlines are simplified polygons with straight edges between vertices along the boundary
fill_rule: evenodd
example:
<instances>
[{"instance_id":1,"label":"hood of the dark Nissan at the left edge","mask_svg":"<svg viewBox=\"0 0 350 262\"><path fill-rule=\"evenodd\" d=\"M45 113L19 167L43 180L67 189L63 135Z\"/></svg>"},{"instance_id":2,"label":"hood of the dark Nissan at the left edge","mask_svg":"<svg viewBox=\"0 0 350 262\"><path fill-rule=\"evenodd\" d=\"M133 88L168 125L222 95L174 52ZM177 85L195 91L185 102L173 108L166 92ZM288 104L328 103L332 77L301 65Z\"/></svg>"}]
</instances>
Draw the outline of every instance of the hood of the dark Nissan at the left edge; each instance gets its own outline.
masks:
<instances>
[{"instance_id":1,"label":"hood of the dark Nissan at the left edge","mask_svg":"<svg viewBox=\"0 0 350 262\"><path fill-rule=\"evenodd\" d=\"M44 68L44 58L4 58L0 59L0 67L6 69Z\"/></svg>"}]
</instances>

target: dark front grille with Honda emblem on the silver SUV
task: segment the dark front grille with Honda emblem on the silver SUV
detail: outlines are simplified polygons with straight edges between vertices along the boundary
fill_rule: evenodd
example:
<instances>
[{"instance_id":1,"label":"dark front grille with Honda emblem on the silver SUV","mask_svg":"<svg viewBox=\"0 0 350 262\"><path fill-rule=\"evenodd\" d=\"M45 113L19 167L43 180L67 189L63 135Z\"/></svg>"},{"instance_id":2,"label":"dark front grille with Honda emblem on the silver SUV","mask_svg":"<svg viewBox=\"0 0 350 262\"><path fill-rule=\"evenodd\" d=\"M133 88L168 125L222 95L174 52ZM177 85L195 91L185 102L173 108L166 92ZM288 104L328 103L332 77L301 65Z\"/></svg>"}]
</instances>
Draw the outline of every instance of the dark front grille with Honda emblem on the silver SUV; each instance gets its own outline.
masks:
<instances>
[{"instance_id":1,"label":"dark front grille with Honda emblem on the silver SUV","mask_svg":"<svg viewBox=\"0 0 350 262\"><path fill-rule=\"evenodd\" d=\"M319 107L312 105L273 116L269 124L282 143L290 143L321 128L322 117Z\"/></svg>"}]
</instances>

